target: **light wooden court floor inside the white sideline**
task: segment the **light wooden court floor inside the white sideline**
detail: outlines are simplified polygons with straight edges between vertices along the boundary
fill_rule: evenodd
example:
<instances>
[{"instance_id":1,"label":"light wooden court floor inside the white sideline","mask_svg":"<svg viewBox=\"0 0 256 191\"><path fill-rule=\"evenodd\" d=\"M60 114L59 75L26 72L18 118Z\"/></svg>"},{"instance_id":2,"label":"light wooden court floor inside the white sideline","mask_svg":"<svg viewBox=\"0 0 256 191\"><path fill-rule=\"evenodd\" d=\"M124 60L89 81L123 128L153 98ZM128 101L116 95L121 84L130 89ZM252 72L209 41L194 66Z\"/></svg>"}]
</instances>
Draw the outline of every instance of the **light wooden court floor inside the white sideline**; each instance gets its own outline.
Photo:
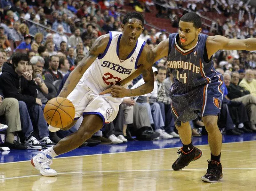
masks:
<instances>
[{"instance_id":1,"label":"light wooden court floor inside the white sideline","mask_svg":"<svg viewBox=\"0 0 256 191\"><path fill-rule=\"evenodd\" d=\"M177 172L171 169L177 148L55 158L51 167L56 177L41 176L29 161L2 163L0 185L6 191L256 189L256 141L223 144L223 179L218 183L201 181L210 150L208 145L198 148L203 156Z\"/></svg>"}]
</instances>

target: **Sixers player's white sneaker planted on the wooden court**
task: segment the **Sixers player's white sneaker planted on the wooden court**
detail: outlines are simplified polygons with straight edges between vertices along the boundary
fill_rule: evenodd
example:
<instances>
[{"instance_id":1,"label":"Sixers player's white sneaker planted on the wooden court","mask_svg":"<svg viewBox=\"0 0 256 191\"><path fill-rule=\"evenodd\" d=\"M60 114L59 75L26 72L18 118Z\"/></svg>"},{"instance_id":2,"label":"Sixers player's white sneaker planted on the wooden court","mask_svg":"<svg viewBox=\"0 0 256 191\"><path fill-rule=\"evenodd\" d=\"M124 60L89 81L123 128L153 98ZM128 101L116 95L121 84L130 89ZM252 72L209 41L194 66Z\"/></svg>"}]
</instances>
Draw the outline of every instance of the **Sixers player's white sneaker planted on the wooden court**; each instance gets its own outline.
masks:
<instances>
[{"instance_id":1,"label":"Sixers player's white sneaker planted on the wooden court","mask_svg":"<svg viewBox=\"0 0 256 191\"><path fill-rule=\"evenodd\" d=\"M52 158L40 151L35 157L31 159L31 164L40 171L43 176L56 176L57 172L51 169Z\"/></svg>"}]
</instances>

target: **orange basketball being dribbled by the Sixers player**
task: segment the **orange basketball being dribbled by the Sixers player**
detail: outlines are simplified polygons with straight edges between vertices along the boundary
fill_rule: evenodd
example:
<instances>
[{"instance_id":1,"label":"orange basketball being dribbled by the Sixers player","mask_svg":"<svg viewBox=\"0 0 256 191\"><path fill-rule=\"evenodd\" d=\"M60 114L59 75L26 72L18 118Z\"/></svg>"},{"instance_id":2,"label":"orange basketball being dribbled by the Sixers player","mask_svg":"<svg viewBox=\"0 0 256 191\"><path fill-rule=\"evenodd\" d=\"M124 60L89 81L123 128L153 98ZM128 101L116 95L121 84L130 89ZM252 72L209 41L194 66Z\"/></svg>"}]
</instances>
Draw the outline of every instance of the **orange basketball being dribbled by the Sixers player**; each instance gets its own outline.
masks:
<instances>
[{"instance_id":1,"label":"orange basketball being dribbled by the Sixers player","mask_svg":"<svg viewBox=\"0 0 256 191\"><path fill-rule=\"evenodd\" d=\"M44 107L44 118L52 127L65 128L75 117L75 107L67 98L52 98Z\"/></svg>"}]
</instances>

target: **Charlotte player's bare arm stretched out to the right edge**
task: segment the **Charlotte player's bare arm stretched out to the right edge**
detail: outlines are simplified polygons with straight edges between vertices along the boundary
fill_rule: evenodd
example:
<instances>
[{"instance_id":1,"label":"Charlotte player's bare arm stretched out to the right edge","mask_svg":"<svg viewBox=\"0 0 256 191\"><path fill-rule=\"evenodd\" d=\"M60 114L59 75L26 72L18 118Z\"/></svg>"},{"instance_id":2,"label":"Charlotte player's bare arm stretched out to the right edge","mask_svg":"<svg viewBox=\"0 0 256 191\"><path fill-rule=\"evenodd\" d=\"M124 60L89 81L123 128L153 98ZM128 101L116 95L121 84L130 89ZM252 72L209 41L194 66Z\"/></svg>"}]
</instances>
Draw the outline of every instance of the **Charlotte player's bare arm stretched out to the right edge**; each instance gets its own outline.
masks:
<instances>
[{"instance_id":1,"label":"Charlotte player's bare arm stretched out to the right edge","mask_svg":"<svg viewBox=\"0 0 256 191\"><path fill-rule=\"evenodd\" d=\"M206 41L208 58L218 50L256 50L256 38L249 39L228 39L224 36L209 36Z\"/></svg>"}]
</instances>

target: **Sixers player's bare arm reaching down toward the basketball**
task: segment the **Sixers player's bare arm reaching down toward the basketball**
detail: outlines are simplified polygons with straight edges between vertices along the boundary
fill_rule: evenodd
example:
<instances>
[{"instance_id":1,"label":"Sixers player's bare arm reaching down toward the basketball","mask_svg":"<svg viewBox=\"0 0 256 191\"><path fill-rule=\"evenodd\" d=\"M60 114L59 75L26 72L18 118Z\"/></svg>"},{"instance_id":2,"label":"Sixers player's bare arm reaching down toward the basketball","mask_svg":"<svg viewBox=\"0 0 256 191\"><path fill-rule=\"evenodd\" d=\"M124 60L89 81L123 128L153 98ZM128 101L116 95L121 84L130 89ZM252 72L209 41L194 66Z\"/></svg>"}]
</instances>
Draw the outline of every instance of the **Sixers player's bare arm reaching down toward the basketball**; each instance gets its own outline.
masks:
<instances>
[{"instance_id":1,"label":"Sixers player's bare arm reaching down toward the basketball","mask_svg":"<svg viewBox=\"0 0 256 191\"><path fill-rule=\"evenodd\" d=\"M102 35L92 44L90 52L87 53L76 68L70 73L58 97L66 98L76 87L84 72L92 65L100 53L103 53L107 47L109 34Z\"/></svg>"}]
</instances>

